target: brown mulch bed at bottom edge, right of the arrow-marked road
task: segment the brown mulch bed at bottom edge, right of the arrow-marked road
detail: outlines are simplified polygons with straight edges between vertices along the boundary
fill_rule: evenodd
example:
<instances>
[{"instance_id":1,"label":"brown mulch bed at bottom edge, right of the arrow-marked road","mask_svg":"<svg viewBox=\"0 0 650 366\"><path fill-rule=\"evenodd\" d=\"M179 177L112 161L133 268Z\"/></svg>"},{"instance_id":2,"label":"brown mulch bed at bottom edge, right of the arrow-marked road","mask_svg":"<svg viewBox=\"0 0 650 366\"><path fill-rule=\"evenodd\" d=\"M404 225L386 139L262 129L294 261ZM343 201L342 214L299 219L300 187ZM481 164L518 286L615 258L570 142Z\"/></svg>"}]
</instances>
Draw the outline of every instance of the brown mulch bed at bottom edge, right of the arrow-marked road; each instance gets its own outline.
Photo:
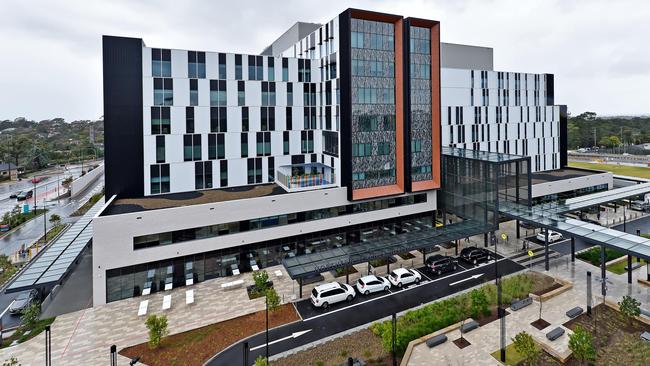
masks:
<instances>
[{"instance_id":1,"label":"brown mulch bed at bottom edge, right of the arrow-marked road","mask_svg":"<svg viewBox=\"0 0 650 366\"><path fill-rule=\"evenodd\" d=\"M381 338L369 329L363 329L340 338L333 339L317 347L300 351L284 357L272 365L305 366L324 365L340 366L346 364L348 357L362 359L366 365L392 365L392 357L381 346ZM397 358L397 364L401 362Z\"/></svg>"}]
</instances>

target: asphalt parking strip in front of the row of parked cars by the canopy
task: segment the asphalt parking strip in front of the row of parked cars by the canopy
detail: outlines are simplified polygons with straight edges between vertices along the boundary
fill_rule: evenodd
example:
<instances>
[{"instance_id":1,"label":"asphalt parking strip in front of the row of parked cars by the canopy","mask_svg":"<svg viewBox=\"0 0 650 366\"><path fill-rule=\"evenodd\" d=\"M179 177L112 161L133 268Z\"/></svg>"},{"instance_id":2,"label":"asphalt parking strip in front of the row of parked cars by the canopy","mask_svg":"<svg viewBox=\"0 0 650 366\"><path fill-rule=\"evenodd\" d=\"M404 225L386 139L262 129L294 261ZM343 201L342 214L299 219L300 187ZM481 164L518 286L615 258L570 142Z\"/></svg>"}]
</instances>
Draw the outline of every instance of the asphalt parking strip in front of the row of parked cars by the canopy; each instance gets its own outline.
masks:
<instances>
[{"instance_id":1,"label":"asphalt parking strip in front of the row of parked cars by the canopy","mask_svg":"<svg viewBox=\"0 0 650 366\"><path fill-rule=\"evenodd\" d=\"M503 257L500 256L500 255L498 257L499 257L500 261L503 259ZM355 284L350 282L350 285L355 289L355 293L356 293L356 295L352 299L352 301L349 301L349 302L348 301L343 301L343 302L339 302L339 303L336 303L336 304L330 304L327 309L322 309L322 308L318 308L318 307L313 306L312 303L311 303L311 300L309 299L309 297L307 297L306 299L303 299L303 300L300 300L300 301L296 302L295 306L296 306L296 310L298 310L298 312L300 313L300 316L302 317L303 320L313 319L313 318L323 316L325 314L338 312L338 311L341 311L343 309L356 307L356 306L359 306L361 304L366 304L366 303L376 301L378 299L382 299L382 298L389 297L389 296L394 296L394 295L397 295L399 293L408 291L409 289L419 287L419 286L424 286L424 285L427 285L429 283L436 282L438 280L442 280L442 279L445 279L445 278L450 277L450 276L456 276L456 275L462 274L463 272L472 271L472 270L474 270L476 268L487 267L487 266L489 266L490 264L493 264L493 263L494 263L494 260L491 260L489 262L484 262L484 263L479 263L478 265L474 265L474 264L468 263L468 262L466 262L466 261L464 261L462 259L458 259L458 264L457 264L456 270L444 273L444 274L442 274L440 276L438 276L438 275L436 275L434 273L431 273L431 271L427 267L420 266L420 267L415 268L415 270L417 272L419 272L420 275L422 275L422 280L420 281L419 284L411 283L411 284L403 286L401 289L396 287L396 286L391 286L391 288L388 290L388 292L380 291L380 292L371 293L369 295L363 295L363 294L360 294L358 292L358 290L356 289L356 286L354 286ZM340 282L341 283L345 282L345 279L343 278L343 280L340 281ZM305 295L308 296L307 294L305 294Z\"/></svg>"}]
</instances>

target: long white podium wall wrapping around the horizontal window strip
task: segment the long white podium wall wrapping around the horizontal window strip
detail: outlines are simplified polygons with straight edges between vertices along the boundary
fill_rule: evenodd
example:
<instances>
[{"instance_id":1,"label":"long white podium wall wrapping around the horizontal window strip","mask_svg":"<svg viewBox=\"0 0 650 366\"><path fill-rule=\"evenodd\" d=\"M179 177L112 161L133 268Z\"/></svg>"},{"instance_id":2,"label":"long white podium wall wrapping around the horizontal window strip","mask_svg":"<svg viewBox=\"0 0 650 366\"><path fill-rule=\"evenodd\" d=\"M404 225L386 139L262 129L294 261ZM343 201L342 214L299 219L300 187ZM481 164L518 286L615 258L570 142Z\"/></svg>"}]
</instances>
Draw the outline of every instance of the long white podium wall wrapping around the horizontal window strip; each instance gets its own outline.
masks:
<instances>
[{"instance_id":1,"label":"long white podium wall wrapping around the horizontal window strip","mask_svg":"<svg viewBox=\"0 0 650 366\"><path fill-rule=\"evenodd\" d=\"M436 191L427 192L425 203L133 250L135 236L349 203L346 188L331 188L97 217L93 220L93 302L97 305L106 301L108 269L433 211L436 209Z\"/></svg>"}]
</instances>

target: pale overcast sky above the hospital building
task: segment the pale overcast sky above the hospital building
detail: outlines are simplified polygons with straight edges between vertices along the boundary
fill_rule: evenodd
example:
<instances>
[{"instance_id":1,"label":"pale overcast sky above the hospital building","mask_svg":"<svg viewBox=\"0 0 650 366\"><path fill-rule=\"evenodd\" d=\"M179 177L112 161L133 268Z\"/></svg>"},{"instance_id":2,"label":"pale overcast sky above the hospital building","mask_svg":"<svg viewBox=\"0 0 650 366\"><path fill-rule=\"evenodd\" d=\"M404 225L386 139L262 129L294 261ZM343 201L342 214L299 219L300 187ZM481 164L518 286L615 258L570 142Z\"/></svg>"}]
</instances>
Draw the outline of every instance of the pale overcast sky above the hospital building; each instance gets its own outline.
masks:
<instances>
[{"instance_id":1,"label":"pale overcast sky above the hospital building","mask_svg":"<svg viewBox=\"0 0 650 366\"><path fill-rule=\"evenodd\" d=\"M443 42L494 48L495 70L555 74L572 114L650 113L650 3L631 0L7 1L0 22L0 120L96 119L101 36L148 46L259 53L294 22L345 8L441 22Z\"/></svg>"}]
</instances>

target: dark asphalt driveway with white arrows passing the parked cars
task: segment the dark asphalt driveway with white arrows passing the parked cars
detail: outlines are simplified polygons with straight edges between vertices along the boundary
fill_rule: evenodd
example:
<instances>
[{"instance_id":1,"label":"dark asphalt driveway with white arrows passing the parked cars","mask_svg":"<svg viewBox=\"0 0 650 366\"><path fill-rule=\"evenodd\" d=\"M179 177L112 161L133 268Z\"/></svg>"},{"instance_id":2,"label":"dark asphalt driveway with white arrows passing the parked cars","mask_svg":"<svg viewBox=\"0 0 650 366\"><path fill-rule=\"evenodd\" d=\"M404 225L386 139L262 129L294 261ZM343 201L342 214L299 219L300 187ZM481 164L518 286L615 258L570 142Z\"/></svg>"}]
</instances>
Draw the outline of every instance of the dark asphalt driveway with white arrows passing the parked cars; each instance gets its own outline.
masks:
<instances>
[{"instance_id":1,"label":"dark asphalt driveway with white arrows passing the parked cars","mask_svg":"<svg viewBox=\"0 0 650 366\"><path fill-rule=\"evenodd\" d=\"M282 340L269 345L269 355L288 351L345 330L385 318L393 313L399 313L415 306L440 299L479 283L492 281L495 278L494 266L494 262L491 262L478 268L441 276L431 281L421 282L417 286L410 286L401 291L373 297L368 301L328 310L326 313L323 312L322 314L311 316L308 319L272 329L269 331L269 342ZM523 268L523 266L509 259L499 260L498 269L500 275L518 272ZM480 277L471 279L473 275L480 275ZM465 279L469 280L454 284ZM307 331L307 333L292 338L295 332L302 331ZM264 354L264 333L262 332L261 334L249 337L245 341L249 342L251 349L261 346L249 354L249 364L253 364L257 356ZM207 364L211 366L241 365L243 362L243 342L240 341L234 344L218 354Z\"/></svg>"}]
</instances>

